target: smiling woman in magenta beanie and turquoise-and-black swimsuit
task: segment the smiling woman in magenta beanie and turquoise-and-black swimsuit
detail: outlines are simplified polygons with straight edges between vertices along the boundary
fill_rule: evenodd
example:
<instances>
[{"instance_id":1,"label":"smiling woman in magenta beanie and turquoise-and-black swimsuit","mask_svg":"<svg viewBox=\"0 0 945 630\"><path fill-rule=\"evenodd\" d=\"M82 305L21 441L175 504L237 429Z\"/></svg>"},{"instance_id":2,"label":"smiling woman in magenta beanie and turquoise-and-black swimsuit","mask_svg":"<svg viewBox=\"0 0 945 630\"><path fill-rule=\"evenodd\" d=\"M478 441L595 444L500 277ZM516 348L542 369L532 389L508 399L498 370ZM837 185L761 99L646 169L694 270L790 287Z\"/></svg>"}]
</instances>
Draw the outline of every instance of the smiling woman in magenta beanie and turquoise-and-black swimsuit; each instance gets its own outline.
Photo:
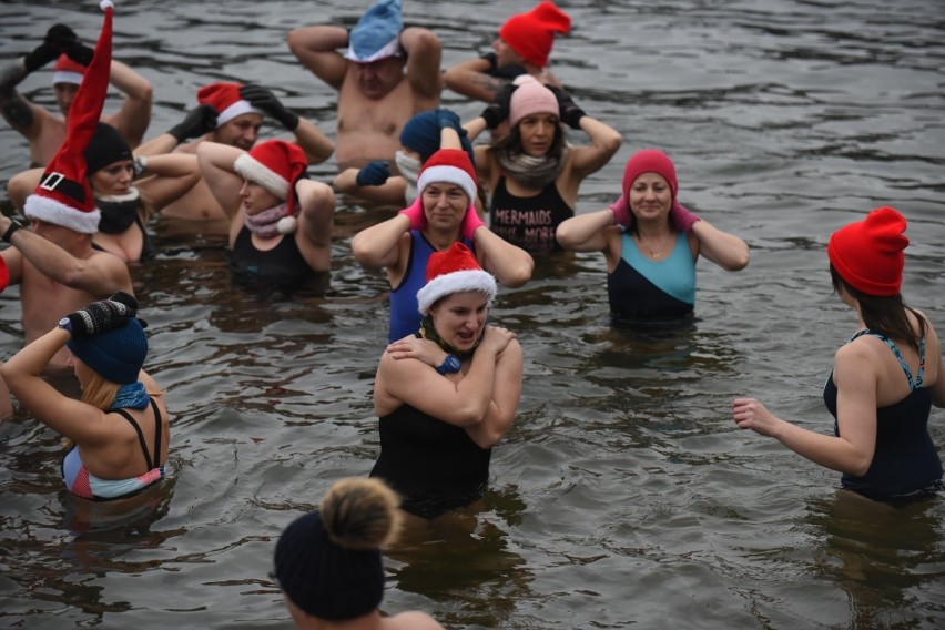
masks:
<instances>
[{"instance_id":1,"label":"smiling woman in magenta beanie and turquoise-and-black swimsuit","mask_svg":"<svg viewBox=\"0 0 945 630\"><path fill-rule=\"evenodd\" d=\"M614 323L689 323L699 256L739 271L749 264L748 245L679 202L675 165L662 151L633 154L623 172L622 190L607 210L558 226L558 242L575 252L603 252Z\"/></svg>"}]
</instances>

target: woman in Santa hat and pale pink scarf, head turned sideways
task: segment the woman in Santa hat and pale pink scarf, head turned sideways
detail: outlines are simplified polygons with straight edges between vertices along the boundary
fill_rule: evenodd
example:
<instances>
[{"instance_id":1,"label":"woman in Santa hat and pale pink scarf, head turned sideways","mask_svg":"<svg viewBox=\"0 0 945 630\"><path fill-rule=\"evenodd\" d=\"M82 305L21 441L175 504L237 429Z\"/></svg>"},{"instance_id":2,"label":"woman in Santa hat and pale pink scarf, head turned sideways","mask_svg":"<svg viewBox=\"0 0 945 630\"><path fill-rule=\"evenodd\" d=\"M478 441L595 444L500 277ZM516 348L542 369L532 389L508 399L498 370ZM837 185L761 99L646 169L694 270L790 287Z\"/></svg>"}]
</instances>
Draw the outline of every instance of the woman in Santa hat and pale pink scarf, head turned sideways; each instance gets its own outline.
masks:
<instances>
[{"instance_id":1,"label":"woman in Santa hat and pale pink scarf, head turned sideways","mask_svg":"<svg viewBox=\"0 0 945 630\"><path fill-rule=\"evenodd\" d=\"M201 142L197 160L230 216L230 267L238 282L296 288L331 271L335 194L307 179L301 146L267 140L243 151Z\"/></svg>"}]
</instances>

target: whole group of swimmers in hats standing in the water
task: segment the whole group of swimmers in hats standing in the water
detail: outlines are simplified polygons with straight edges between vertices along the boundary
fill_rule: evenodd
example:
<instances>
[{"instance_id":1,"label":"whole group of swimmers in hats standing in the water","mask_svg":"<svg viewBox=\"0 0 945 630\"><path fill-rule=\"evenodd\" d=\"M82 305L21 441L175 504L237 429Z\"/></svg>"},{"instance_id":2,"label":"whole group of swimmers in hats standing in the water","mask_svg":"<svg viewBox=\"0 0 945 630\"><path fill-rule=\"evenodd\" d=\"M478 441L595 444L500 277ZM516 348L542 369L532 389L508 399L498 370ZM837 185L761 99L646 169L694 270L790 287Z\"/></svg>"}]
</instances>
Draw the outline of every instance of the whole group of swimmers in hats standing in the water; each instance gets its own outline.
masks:
<instances>
[{"instance_id":1,"label":"whole group of swimmers in hats standing in the water","mask_svg":"<svg viewBox=\"0 0 945 630\"><path fill-rule=\"evenodd\" d=\"M468 506L488 484L522 388L522 348L488 318L498 286L527 283L555 251L600 252L616 323L681 325L693 316L698 257L738 271L748 245L680 202L675 164L657 149L630 158L610 206L575 213L581 182L621 138L548 70L555 34L570 29L550 1L512 16L491 53L445 73L438 38L404 28L398 0L378 1L350 32L292 31L291 50L338 90L337 145L255 83L202 88L179 124L139 144L144 129L132 112L146 102L150 113L150 88L111 59L113 7L102 4L94 51L57 24L0 73L3 115L40 164L8 186L30 225L0 216L9 244L0 288L20 286L28 343L0 367L0 414L12 411L9 388L72 440L62 474L77 500L145 491L165 475L171 438L164 393L143 369L148 341L128 268L153 252L152 213L222 220L234 278L295 287L331 270L336 194L400 206L350 242L390 283L389 345L374 383L380 454L368 479L341 481L286 528L275 577L299 627L439 628L419 612L382 618L379 549L402 522ZM61 121L13 89L53 60ZM112 124L102 121L110 80L125 93ZM485 101L481 114L463 123L438 108L440 82ZM256 142L264 116L293 141ZM571 144L566 126L589 144ZM486 131L491 141L477 143ZM309 180L309 164L333 153L334 182ZM831 237L834 288L857 314L824 389L834 435L752 398L732 406L739 427L878 500L934 494L943 474L927 421L932 405L945 404L945 378L931 322L901 295L905 230L900 212L881 207ZM81 400L43 378L61 368L74 370Z\"/></svg>"}]
</instances>

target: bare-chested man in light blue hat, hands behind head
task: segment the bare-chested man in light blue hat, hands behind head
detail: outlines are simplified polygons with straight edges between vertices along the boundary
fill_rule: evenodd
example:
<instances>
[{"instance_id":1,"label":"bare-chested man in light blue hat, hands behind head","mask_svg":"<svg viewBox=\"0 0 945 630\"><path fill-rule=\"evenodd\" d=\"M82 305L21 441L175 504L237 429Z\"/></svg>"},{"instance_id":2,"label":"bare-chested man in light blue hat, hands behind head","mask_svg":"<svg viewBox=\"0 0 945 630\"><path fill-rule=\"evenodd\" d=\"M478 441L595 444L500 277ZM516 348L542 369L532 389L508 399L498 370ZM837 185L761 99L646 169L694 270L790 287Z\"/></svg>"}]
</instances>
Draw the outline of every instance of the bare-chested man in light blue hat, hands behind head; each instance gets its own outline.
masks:
<instances>
[{"instance_id":1,"label":"bare-chested man in light blue hat, hands behind head","mask_svg":"<svg viewBox=\"0 0 945 630\"><path fill-rule=\"evenodd\" d=\"M379 0L350 35L327 24L295 29L288 47L338 91L339 170L393 161L404 124L439 106L443 43L427 29L404 28L400 0ZM344 54L338 52L345 47Z\"/></svg>"}]
</instances>

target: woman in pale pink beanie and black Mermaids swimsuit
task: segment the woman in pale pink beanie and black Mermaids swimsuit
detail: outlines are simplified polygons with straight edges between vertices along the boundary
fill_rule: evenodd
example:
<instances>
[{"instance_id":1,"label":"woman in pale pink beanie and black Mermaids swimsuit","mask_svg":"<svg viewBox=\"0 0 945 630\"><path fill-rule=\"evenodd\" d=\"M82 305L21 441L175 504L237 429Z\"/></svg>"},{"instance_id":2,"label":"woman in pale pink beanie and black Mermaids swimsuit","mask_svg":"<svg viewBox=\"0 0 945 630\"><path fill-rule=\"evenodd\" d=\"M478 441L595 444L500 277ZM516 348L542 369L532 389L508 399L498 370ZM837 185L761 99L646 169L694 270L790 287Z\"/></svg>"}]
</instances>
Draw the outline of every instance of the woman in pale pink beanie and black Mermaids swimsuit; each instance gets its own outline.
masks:
<instances>
[{"instance_id":1,"label":"woman in pale pink beanie and black Mermaids swimsuit","mask_svg":"<svg viewBox=\"0 0 945 630\"><path fill-rule=\"evenodd\" d=\"M575 216L581 182L620 149L620 134L587 115L562 90L528 75L465 126L475 139L506 121L508 134L476 148L476 167L490 196L490 227L527 252L560 250L555 231ZM583 131L590 144L570 145L561 123Z\"/></svg>"}]
</instances>

